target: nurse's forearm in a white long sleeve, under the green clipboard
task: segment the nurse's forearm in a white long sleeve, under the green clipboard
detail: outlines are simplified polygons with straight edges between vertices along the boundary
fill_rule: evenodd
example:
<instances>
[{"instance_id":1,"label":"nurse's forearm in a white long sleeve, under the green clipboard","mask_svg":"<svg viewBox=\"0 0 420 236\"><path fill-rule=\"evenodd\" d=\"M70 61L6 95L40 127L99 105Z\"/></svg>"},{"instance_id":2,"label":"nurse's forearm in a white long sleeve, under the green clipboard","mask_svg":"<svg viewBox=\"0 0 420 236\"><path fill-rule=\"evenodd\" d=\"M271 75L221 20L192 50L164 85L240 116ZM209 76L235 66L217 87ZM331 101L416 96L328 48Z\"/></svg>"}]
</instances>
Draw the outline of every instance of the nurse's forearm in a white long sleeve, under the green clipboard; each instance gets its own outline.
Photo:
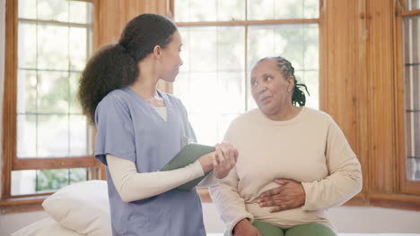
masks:
<instances>
[{"instance_id":1,"label":"nurse's forearm in a white long sleeve, under the green clipboard","mask_svg":"<svg viewBox=\"0 0 420 236\"><path fill-rule=\"evenodd\" d=\"M177 170L154 173L137 173L135 163L118 156L107 155L107 162L112 182L125 202L156 196L204 175L198 161Z\"/></svg>"}]
</instances>

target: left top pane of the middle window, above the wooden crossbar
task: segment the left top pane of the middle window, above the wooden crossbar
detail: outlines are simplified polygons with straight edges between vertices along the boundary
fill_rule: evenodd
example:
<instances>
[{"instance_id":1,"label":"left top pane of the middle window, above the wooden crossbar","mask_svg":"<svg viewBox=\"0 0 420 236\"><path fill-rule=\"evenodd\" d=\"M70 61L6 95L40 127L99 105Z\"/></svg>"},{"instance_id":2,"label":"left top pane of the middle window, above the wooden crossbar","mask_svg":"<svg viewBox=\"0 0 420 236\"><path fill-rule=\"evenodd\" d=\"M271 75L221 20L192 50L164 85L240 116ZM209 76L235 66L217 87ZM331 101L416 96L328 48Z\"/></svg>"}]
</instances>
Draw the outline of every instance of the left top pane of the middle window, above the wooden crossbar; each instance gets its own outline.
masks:
<instances>
[{"instance_id":1,"label":"left top pane of the middle window, above the wooden crossbar","mask_svg":"<svg viewBox=\"0 0 420 236\"><path fill-rule=\"evenodd\" d=\"M175 21L243 21L245 1L243 0L177 0Z\"/></svg>"}]
</instances>

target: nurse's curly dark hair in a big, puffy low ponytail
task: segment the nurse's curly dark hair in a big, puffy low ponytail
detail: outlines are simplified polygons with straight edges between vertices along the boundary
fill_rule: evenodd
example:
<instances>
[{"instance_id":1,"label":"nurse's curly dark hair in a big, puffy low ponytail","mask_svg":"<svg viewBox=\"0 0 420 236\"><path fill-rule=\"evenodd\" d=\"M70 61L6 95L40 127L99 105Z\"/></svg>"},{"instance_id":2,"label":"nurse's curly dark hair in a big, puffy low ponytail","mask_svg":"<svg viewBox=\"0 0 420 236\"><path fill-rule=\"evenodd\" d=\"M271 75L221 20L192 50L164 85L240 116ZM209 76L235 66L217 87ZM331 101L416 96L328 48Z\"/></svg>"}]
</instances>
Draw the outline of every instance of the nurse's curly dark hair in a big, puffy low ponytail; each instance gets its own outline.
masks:
<instances>
[{"instance_id":1,"label":"nurse's curly dark hair in a big, puffy low ponytail","mask_svg":"<svg viewBox=\"0 0 420 236\"><path fill-rule=\"evenodd\" d=\"M94 124L96 106L110 91L133 84L137 63L153 53L154 46L171 43L177 26L165 16L146 13L127 23L118 44L102 46L89 59L79 81L77 98L83 114Z\"/></svg>"}]
</instances>

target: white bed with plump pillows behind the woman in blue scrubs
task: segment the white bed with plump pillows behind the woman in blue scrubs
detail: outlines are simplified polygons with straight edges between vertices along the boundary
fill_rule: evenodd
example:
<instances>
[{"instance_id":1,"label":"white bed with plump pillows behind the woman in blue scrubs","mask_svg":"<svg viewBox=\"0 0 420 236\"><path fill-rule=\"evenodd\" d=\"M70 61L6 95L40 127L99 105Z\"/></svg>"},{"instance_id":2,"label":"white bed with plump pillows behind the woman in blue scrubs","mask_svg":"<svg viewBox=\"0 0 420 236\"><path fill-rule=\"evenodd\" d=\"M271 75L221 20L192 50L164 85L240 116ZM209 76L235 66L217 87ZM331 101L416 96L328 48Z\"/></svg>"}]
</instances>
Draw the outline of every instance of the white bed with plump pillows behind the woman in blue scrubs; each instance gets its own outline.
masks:
<instances>
[{"instance_id":1,"label":"white bed with plump pillows behind the woman in blue scrubs","mask_svg":"<svg viewBox=\"0 0 420 236\"><path fill-rule=\"evenodd\" d=\"M12 236L111 236L106 181L66 186L42 204L48 217L13 232ZM340 233L339 236L420 236L413 233ZM223 233L208 233L223 236Z\"/></svg>"}]
</instances>

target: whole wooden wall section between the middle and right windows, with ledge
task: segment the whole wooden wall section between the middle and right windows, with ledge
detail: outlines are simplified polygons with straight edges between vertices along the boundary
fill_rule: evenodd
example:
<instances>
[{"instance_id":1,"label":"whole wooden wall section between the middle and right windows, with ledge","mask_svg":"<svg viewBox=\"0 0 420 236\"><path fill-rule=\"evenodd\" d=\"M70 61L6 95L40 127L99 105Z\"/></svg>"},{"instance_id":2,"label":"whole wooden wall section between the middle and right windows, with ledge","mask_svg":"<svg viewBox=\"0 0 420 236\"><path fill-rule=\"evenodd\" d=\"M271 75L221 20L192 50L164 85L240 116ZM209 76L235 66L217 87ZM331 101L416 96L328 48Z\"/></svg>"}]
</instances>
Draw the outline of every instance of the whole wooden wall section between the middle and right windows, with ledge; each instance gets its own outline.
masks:
<instances>
[{"instance_id":1,"label":"whole wooden wall section between the middle and right windows, with ledge","mask_svg":"<svg viewBox=\"0 0 420 236\"><path fill-rule=\"evenodd\" d=\"M419 209L420 185L405 181L398 7L392 0L324 1L321 109L334 117L361 161L363 191L353 202Z\"/></svg>"}]
</instances>

